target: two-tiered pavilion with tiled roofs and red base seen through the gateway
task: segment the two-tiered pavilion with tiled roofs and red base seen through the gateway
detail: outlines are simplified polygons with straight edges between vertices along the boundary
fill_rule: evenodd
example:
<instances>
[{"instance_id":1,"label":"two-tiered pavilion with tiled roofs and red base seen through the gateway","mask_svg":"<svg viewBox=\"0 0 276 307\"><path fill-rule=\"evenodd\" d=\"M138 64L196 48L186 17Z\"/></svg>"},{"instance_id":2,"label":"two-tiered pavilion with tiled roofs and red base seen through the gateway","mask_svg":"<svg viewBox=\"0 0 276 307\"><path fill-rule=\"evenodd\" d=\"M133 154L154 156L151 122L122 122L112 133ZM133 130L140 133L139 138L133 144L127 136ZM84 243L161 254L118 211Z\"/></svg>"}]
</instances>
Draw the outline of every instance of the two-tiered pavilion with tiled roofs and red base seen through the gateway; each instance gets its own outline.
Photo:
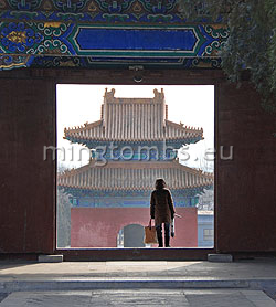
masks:
<instances>
[{"instance_id":1,"label":"two-tiered pavilion with tiled roofs and red base seen through the gateway","mask_svg":"<svg viewBox=\"0 0 276 307\"><path fill-rule=\"evenodd\" d=\"M180 165L176 149L203 138L203 130L168 120L164 94L153 98L117 98L105 93L102 118L65 129L65 138L92 149L89 165L57 177L72 195L71 246L144 246L142 225L149 222L149 197L157 178L172 192L177 236L171 245L198 245L198 195L213 177ZM132 239L131 239L132 237ZM138 242L139 241L139 242Z\"/></svg>"}]
</instances>

